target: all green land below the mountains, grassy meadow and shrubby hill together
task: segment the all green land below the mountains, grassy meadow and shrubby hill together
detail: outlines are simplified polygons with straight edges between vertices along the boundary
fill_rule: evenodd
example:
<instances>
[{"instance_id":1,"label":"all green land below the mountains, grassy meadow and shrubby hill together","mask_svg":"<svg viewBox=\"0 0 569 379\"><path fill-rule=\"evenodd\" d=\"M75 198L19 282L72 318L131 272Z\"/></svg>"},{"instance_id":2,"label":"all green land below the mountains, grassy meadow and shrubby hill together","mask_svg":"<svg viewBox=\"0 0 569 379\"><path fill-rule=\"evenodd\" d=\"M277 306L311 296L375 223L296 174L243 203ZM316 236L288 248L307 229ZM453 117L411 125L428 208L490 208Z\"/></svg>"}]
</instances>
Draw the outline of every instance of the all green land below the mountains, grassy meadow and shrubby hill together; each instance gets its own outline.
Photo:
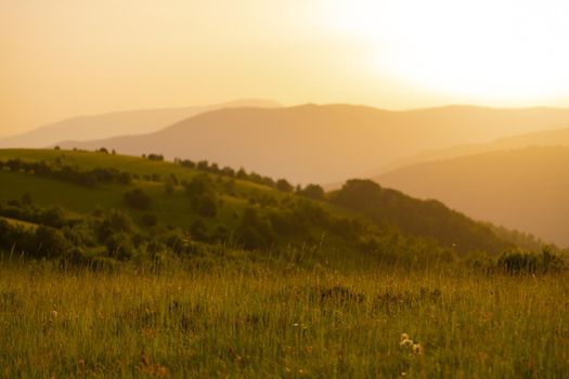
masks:
<instances>
[{"instance_id":1,"label":"all green land below the mountains, grassy meadow and shrubby hill together","mask_svg":"<svg viewBox=\"0 0 569 379\"><path fill-rule=\"evenodd\" d=\"M0 378L569 376L567 251L240 171L0 149Z\"/></svg>"}]
</instances>

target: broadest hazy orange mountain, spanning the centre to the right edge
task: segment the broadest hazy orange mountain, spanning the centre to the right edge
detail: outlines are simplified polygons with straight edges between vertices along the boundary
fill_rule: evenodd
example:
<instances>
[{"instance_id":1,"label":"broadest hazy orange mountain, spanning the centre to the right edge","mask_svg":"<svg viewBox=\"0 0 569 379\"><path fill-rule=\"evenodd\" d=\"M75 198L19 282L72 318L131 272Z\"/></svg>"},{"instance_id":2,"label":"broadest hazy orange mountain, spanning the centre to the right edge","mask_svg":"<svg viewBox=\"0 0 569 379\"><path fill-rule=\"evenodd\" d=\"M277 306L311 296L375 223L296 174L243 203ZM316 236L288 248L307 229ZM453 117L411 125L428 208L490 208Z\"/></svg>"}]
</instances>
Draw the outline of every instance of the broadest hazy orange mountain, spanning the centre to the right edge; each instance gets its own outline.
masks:
<instances>
[{"instance_id":1,"label":"broadest hazy orange mountain, spanning the centre to the right edge","mask_svg":"<svg viewBox=\"0 0 569 379\"><path fill-rule=\"evenodd\" d=\"M425 149L560 128L569 109L448 106L388 112L354 105L214 110L155 133L64 147L210 160L294 182L331 183Z\"/></svg>"}]
</instances>

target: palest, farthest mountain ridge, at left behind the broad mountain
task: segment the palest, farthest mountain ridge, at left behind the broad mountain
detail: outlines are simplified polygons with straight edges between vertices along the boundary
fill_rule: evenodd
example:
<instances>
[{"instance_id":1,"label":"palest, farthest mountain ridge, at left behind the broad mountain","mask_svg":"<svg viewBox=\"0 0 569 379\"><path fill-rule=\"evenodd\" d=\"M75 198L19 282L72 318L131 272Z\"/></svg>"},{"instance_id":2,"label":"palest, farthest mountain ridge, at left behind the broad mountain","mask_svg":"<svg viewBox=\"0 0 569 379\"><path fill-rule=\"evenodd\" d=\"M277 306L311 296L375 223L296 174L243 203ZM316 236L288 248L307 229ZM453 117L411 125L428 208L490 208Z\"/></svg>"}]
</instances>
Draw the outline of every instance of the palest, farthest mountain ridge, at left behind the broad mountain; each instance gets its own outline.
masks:
<instances>
[{"instance_id":1,"label":"palest, farthest mountain ridge, at left behind the broad mountain","mask_svg":"<svg viewBox=\"0 0 569 379\"><path fill-rule=\"evenodd\" d=\"M279 106L281 105L266 100L238 100L207 106L141 109L81 116L46 125L23 134L0 139L0 147L47 147L64 140L86 141L125 134L151 133L208 110Z\"/></svg>"}]
</instances>

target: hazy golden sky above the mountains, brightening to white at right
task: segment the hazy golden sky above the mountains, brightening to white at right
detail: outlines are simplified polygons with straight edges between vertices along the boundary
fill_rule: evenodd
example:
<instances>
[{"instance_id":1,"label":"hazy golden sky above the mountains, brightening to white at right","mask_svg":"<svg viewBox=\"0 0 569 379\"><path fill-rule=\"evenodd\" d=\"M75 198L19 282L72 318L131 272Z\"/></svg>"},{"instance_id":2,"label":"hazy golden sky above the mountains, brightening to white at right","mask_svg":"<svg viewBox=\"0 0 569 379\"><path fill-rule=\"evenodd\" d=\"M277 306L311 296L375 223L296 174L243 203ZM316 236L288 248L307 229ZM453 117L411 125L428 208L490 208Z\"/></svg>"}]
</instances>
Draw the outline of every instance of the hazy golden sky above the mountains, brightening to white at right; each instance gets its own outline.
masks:
<instances>
[{"instance_id":1,"label":"hazy golden sky above the mountains, brightening to white at right","mask_svg":"<svg viewBox=\"0 0 569 379\"><path fill-rule=\"evenodd\" d=\"M262 97L569 106L569 4L0 0L0 135Z\"/></svg>"}]
</instances>

